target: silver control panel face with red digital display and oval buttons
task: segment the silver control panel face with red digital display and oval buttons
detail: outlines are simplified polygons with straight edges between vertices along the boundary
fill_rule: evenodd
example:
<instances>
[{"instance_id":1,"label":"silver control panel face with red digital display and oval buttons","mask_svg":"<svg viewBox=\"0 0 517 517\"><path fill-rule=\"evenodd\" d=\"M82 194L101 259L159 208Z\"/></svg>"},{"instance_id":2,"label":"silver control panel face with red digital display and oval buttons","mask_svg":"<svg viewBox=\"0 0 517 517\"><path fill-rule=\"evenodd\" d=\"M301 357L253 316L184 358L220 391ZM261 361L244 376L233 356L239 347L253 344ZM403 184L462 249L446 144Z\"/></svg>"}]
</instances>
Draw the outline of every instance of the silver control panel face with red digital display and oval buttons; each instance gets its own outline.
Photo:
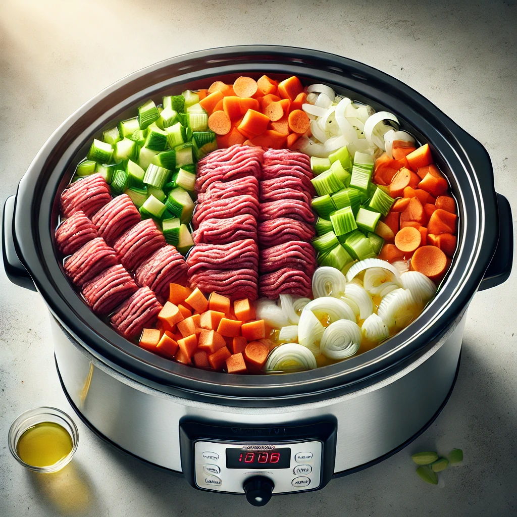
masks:
<instances>
[{"instance_id":1,"label":"silver control panel face with red digital display and oval buttons","mask_svg":"<svg viewBox=\"0 0 517 517\"><path fill-rule=\"evenodd\" d=\"M275 483L273 494L313 490L321 484L322 442L259 444L199 440L194 444L195 484L205 490L244 493L251 476Z\"/></svg>"}]
</instances>

